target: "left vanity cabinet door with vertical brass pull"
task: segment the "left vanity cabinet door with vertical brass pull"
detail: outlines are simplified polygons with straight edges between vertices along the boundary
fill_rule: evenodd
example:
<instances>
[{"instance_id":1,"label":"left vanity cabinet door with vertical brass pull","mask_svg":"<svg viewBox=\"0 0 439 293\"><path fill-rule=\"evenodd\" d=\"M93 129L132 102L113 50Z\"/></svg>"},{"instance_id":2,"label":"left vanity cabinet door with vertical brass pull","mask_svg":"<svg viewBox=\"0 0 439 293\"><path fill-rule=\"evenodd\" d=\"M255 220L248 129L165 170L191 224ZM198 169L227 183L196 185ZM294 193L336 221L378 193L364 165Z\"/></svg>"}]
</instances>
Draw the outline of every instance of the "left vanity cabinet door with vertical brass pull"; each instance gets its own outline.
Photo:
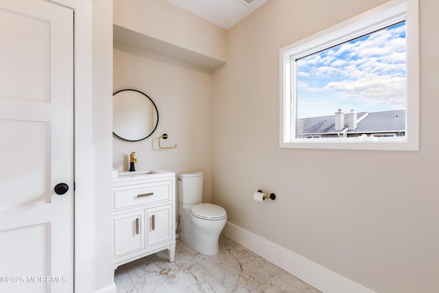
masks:
<instances>
[{"instance_id":1,"label":"left vanity cabinet door with vertical brass pull","mask_svg":"<svg viewBox=\"0 0 439 293\"><path fill-rule=\"evenodd\" d=\"M143 211L123 213L114 217L114 257L145 248Z\"/></svg>"}]
</instances>

